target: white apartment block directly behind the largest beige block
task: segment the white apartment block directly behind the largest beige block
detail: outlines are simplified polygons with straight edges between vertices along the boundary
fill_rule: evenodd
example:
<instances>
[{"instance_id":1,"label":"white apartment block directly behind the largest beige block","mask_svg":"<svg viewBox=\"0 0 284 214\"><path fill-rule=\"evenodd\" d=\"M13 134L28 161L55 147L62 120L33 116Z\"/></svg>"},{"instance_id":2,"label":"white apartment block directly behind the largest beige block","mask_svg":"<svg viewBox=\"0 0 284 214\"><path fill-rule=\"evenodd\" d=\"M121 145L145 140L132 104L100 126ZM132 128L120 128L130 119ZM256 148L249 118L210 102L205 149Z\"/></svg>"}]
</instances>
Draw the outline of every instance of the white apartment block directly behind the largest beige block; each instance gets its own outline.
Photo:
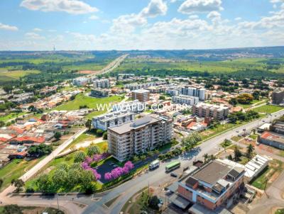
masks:
<instances>
[{"instance_id":1,"label":"white apartment block directly behind the largest beige block","mask_svg":"<svg viewBox=\"0 0 284 214\"><path fill-rule=\"evenodd\" d=\"M102 116L95 116L92 118L92 125L94 128L107 130L107 128L115 125L121 125L133 121L135 113L131 111L116 111L112 113L105 113Z\"/></svg>"}]
</instances>

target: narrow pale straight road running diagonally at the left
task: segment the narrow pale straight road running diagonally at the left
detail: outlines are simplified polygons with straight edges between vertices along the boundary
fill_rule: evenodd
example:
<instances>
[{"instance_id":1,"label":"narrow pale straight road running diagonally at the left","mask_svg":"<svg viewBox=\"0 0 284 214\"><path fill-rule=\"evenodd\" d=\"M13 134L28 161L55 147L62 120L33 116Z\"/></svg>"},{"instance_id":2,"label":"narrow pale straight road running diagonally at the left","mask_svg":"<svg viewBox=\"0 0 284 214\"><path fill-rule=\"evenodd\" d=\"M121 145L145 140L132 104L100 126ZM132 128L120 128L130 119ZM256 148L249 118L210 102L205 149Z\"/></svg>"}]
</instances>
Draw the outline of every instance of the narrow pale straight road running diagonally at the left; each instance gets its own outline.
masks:
<instances>
[{"instance_id":1,"label":"narrow pale straight road running diagonally at the left","mask_svg":"<svg viewBox=\"0 0 284 214\"><path fill-rule=\"evenodd\" d=\"M50 162L51 160L53 160L54 157L56 157L60 152L62 152L62 150L64 150L68 145L70 145L70 143L75 140L77 137L79 137L82 133L84 133L87 130L87 128L84 128L82 130L80 130L78 133L76 133L75 135L73 135L72 137L70 137L68 140L66 140L65 142L63 142L56 150L54 150L51 154L49 154L47 157L45 157L45 159L41 160L40 162L38 162L38 164L36 164L32 169L30 169L29 171L27 171L25 174L23 174L23 176L21 176L19 179L22 179L23 181L28 181L28 179L30 179L32 176L34 176L38 171L40 171L41 168L43 168L46 164L48 164L48 162ZM14 186L9 186L7 187L1 194L0 194L0 198L3 197L3 199L1 201L5 201L5 199L8 199L9 202L9 198L5 197L7 196L9 193L12 193L13 191L15 191L15 187Z\"/></svg>"}]
</instances>

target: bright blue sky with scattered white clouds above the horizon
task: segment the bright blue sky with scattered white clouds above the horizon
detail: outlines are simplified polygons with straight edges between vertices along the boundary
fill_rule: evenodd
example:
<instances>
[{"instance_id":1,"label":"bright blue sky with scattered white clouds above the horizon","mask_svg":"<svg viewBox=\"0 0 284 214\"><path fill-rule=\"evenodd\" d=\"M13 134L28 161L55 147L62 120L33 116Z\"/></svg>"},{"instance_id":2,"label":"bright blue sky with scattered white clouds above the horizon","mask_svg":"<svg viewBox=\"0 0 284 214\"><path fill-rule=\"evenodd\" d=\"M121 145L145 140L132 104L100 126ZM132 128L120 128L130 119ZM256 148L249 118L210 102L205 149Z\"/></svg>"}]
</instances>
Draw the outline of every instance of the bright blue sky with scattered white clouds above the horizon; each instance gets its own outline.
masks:
<instances>
[{"instance_id":1,"label":"bright blue sky with scattered white clouds above the horizon","mask_svg":"<svg viewBox=\"0 0 284 214\"><path fill-rule=\"evenodd\" d=\"M284 0L1 0L0 50L284 45Z\"/></svg>"}]
</instances>

